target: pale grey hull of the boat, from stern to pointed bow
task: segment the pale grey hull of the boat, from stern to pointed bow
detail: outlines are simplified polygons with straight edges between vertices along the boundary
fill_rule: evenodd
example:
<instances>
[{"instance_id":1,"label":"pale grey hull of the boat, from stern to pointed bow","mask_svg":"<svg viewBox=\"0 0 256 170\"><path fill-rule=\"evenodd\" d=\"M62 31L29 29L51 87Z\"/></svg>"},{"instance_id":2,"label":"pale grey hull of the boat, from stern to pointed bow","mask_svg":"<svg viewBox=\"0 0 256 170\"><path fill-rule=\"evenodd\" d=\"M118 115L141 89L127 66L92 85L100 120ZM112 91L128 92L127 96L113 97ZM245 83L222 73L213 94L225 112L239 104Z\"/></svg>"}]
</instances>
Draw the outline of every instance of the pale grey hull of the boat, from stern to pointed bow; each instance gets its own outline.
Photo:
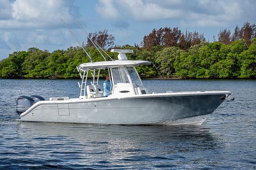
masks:
<instances>
[{"instance_id":1,"label":"pale grey hull of the boat, from stern to pointed bow","mask_svg":"<svg viewBox=\"0 0 256 170\"><path fill-rule=\"evenodd\" d=\"M99 99L40 101L22 121L118 125L202 124L230 93L156 94Z\"/></svg>"}]
</instances>

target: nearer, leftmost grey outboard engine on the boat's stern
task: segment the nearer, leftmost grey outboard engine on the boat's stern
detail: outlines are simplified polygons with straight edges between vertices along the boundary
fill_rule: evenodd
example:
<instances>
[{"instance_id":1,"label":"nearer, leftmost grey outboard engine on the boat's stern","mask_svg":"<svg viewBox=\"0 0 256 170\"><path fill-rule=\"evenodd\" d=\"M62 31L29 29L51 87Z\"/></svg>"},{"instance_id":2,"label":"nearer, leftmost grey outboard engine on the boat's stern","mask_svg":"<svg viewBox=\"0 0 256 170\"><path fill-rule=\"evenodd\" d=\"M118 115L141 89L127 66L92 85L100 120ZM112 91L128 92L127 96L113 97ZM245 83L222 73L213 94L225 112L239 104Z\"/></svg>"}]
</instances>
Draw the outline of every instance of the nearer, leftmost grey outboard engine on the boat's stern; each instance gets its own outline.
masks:
<instances>
[{"instance_id":1,"label":"nearer, leftmost grey outboard engine on the boat's stern","mask_svg":"<svg viewBox=\"0 0 256 170\"><path fill-rule=\"evenodd\" d=\"M28 96L19 96L16 101L16 112L22 114L34 104L34 100Z\"/></svg>"}]
</instances>

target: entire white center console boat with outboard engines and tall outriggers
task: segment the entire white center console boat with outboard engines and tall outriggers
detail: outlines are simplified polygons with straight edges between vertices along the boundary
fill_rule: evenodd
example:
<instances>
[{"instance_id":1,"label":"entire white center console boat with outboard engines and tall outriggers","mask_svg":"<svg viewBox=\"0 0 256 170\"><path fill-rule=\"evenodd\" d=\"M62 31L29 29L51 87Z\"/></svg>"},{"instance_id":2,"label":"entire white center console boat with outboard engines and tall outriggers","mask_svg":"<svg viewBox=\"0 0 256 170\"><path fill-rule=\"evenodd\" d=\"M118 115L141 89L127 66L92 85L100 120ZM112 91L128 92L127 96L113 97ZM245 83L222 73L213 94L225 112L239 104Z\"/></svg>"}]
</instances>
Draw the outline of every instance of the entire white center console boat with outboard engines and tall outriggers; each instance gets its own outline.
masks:
<instances>
[{"instance_id":1,"label":"entire white center console boat with outboard engines and tall outriggers","mask_svg":"<svg viewBox=\"0 0 256 170\"><path fill-rule=\"evenodd\" d=\"M67 27L66 24L65 26ZM71 32L69 28L68 30ZM88 38L91 40L89 36ZM75 39L77 40L76 37ZM98 44L92 42L97 48ZM78 43L80 44L79 41ZM133 52L133 50L112 49L112 52L119 52L118 60L106 61L97 48L105 61L93 63L91 56L82 45L81 47L89 56L91 63L84 63L77 67L82 79L81 83L78 83L79 98L52 97L50 100L45 100L36 95L20 96L17 99L16 111L21 121L116 125L200 125L231 94L229 91L150 94L135 67L151 63L127 60L125 52ZM98 47L100 48L99 45ZM110 75L111 95L108 97L103 97L103 88L99 84L101 70L107 70ZM90 83L89 76L93 79Z\"/></svg>"}]
</instances>

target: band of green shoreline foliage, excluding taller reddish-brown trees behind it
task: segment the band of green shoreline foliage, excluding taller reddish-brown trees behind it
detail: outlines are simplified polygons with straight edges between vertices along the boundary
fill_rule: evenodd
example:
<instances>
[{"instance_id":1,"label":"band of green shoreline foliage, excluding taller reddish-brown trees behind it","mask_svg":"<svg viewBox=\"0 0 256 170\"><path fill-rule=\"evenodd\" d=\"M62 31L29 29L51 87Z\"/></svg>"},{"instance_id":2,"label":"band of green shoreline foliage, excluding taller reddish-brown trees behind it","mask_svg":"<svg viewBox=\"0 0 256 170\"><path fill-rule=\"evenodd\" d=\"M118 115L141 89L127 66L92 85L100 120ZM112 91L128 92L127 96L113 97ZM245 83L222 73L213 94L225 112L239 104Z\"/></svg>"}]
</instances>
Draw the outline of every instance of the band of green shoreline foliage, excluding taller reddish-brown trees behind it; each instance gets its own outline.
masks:
<instances>
[{"instance_id":1,"label":"band of green shoreline foliage, excluding taller reddish-brown trees behind it","mask_svg":"<svg viewBox=\"0 0 256 170\"><path fill-rule=\"evenodd\" d=\"M244 40L226 45L220 42L200 42L186 51L177 46L152 46L150 49L138 45L123 45L119 48L133 49L127 53L128 60L145 60L150 66L138 66L141 77L180 76L183 78L230 79L256 78L256 38L250 46ZM95 47L86 47L94 62L104 61ZM118 53L106 51L117 60ZM102 51L103 53L103 51ZM103 53L106 60L110 58ZM90 59L81 47L49 52L32 47L27 51L16 51L0 61L1 78L79 78L76 66L89 63ZM103 78L107 71L102 71Z\"/></svg>"}]
</instances>

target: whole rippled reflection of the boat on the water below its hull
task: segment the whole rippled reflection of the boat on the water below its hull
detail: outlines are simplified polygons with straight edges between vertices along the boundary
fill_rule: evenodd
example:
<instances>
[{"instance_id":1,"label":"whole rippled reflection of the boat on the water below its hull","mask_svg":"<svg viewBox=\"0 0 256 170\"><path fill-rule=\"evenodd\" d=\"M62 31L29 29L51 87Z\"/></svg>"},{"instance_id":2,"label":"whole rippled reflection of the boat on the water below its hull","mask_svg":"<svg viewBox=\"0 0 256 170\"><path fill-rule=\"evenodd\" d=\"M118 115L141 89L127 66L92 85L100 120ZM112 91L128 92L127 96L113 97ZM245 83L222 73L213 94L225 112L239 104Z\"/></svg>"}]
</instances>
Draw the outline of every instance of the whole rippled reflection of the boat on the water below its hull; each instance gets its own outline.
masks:
<instances>
[{"instance_id":1,"label":"whole rippled reflection of the boat on the water below its hull","mask_svg":"<svg viewBox=\"0 0 256 170\"><path fill-rule=\"evenodd\" d=\"M18 136L26 139L22 141L24 150L39 144L35 151L38 150L45 157L65 155L58 156L58 159L63 162L72 160L73 164L93 164L97 168L102 164L112 168L114 164L119 164L127 169L131 161L143 163L145 165L140 166L145 167L152 161L165 161L165 157L169 157L166 160L168 163L173 159L176 162L179 159L177 154L186 156L188 151L218 147L218 140L211 136L209 129L193 125L113 126L21 122ZM145 160L145 156L149 160ZM99 160L101 162L97 162Z\"/></svg>"}]
</instances>

